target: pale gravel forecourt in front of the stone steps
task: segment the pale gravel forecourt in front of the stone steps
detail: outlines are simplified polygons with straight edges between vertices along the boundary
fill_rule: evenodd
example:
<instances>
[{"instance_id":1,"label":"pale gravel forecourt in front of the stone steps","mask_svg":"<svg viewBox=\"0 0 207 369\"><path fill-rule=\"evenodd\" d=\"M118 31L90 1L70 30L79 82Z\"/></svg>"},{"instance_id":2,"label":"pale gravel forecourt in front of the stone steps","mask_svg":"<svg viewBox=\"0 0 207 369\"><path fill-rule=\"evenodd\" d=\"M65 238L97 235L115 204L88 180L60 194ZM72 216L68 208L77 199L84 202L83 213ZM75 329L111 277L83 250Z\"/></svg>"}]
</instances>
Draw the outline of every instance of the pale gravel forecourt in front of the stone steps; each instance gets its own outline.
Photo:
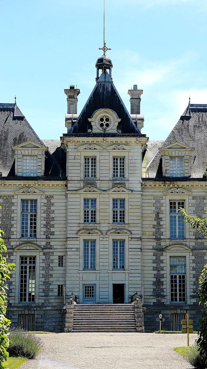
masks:
<instances>
[{"instance_id":1,"label":"pale gravel forecourt in front of the stone steps","mask_svg":"<svg viewBox=\"0 0 207 369\"><path fill-rule=\"evenodd\" d=\"M44 348L21 369L191 369L173 347L186 346L185 334L39 334ZM193 344L197 334L190 335Z\"/></svg>"}]
</instances>

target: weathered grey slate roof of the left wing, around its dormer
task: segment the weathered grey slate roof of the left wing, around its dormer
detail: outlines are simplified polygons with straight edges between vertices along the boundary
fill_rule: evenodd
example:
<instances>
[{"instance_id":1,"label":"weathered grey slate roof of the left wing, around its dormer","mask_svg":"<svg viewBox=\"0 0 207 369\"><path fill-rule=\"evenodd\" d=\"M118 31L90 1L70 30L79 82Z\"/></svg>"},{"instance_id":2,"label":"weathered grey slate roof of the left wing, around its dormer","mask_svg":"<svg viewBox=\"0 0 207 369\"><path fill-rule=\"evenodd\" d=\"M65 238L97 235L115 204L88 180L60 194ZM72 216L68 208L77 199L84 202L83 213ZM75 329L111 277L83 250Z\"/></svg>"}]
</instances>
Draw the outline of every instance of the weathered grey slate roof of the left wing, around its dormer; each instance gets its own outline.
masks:
<instances>
[{"instance_id":1,"label":"weathered grey slate roof of the left wing, around its dormer","mask_svg":"<svg viewBox=\"0 0 207 369\"><path fill-rule=\"evenodd\" d=\"M15 153L12 146L30 140L46 146L16 104L0 103L0 172L2 177L15 176ZM61 161L59 162L49 151L46 151L45 155L45 177L64 176Z\"/></svg>"}]
</instances>

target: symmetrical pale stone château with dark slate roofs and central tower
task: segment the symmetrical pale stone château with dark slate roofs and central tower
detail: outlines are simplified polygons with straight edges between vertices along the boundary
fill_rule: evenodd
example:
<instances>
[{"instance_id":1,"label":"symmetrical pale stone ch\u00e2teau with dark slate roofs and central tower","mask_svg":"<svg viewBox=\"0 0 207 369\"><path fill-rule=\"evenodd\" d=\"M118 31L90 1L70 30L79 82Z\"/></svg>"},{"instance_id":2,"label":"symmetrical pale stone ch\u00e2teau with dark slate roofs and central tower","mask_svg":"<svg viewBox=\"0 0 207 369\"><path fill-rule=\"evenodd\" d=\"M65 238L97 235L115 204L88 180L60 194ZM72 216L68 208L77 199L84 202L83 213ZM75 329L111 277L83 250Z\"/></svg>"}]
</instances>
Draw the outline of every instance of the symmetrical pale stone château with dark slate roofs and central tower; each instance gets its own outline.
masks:
<instances>
[{"instance_id":1,"label":"symmetrical pale stone ch\u00e2teau with dark slate roofs and central tower","mask_svg":"<svg viewBox=\"0 0 207 369\"><path fill-rule=\"evenodd\" d=\"M129 114L110 59L102 56L96 68L79 115L80 90L64 90L61 140L41 140L16 103L0 104L0 223L16 264L9 317L25 329L71 331L83 328L77 309L85 306L90 320L93 309L96 317L108 308L109 330L141 331L142 304L146 331L158 314L166 329L179 330L186 311L195 322L200 314L206 242L178 208L200 217L207 210L207 105L189 104L165 141L148 141L143 90L128 91ZM117 325L124 309L133 328Z\"/></svg>"}]
</instances>

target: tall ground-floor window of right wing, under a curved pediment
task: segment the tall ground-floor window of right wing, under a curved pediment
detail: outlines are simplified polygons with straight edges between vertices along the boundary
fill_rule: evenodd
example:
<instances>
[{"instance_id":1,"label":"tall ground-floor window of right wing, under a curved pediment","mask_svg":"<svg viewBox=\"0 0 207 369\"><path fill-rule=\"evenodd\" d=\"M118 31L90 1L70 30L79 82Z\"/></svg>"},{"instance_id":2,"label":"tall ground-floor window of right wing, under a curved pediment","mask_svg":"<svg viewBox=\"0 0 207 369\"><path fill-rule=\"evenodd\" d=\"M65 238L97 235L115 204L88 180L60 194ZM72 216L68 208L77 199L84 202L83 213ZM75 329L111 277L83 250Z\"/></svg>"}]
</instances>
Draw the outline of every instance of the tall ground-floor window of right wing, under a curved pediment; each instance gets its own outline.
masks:
<instances>
[{"instance_id":1,"label":"tall ground-floor window of right wing, under a curved pediment","mask_svg":"<svg viewBox=\"0 0 207 369\"><path fill-rule=\"evenodd\" d=\"M186 259L170 256L171 302L186 301Z\"/></svg>"}]
</instances>

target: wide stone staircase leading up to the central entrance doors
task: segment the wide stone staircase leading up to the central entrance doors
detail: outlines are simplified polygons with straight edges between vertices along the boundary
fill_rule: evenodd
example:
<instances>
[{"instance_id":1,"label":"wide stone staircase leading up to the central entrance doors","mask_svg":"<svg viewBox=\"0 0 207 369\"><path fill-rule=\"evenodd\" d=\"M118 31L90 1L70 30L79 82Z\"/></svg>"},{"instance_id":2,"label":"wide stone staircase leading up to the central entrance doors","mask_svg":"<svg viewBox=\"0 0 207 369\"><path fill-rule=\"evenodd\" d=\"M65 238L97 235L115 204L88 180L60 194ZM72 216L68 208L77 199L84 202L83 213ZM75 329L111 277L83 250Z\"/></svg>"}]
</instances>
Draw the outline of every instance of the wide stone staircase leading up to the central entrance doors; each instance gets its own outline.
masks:
<instances>
[{"instance_id":1,"label":"wide stone staircase leading up to the central entrance doors","mask_svg":"<svg viewBox=\"0 0 207 369\"><path fill-rule=\"evenodd\" d=\"M68 305L64 332L144 332L142 308L135 304Z\"/></svg>"}]
</instances>

